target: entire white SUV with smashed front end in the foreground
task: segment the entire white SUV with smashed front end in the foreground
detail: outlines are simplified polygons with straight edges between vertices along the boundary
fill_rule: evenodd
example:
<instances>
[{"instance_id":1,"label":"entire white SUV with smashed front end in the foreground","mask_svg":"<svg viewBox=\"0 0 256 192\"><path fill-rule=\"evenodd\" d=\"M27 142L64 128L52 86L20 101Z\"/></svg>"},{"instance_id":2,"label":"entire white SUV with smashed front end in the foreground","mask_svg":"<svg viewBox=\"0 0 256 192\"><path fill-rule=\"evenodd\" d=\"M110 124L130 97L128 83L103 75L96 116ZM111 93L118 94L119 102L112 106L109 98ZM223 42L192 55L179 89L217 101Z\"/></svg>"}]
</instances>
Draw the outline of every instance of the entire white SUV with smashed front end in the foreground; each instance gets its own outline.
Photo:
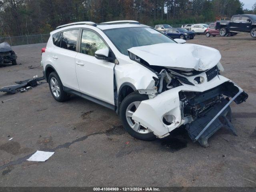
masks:
<instances>
[{"instance_id":1,"label":"entire white SUV with smashed front end in the foreground","mask_svg":"<svg viewBox=\"0 0 256 192\"><path fill-rule=\"evenodd\" d=\"M57 27L42 49L44 76L54 99L76 94L116 111L140 140L164 138L185 126L208 146L221 127L236 134L230 103L248 94L222 76L220 52L178 44L136 21Z\"/></svg>"}]
</instances>

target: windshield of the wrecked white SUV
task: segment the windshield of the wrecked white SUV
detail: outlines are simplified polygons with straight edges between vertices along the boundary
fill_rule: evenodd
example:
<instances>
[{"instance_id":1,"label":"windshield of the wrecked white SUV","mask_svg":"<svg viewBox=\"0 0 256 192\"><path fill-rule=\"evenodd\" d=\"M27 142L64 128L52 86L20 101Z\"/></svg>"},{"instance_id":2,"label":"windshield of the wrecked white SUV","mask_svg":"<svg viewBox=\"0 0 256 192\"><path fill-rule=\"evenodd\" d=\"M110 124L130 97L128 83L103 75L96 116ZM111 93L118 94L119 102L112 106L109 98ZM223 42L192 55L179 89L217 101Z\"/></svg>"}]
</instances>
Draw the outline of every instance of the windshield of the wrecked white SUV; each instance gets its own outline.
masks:
<instances>
[{"instance_id":1,"label":"windshield of the wrecked white SUV","mask_svg":"<svg viewBox=\"0 0 256 192\"><path fill-rule=\"evenodd\" d=\"M103 31L116 48L128 56L128 49L159 43L176 43L168 36L149 27L116 28Z\"/></svg>"}]
</instances>

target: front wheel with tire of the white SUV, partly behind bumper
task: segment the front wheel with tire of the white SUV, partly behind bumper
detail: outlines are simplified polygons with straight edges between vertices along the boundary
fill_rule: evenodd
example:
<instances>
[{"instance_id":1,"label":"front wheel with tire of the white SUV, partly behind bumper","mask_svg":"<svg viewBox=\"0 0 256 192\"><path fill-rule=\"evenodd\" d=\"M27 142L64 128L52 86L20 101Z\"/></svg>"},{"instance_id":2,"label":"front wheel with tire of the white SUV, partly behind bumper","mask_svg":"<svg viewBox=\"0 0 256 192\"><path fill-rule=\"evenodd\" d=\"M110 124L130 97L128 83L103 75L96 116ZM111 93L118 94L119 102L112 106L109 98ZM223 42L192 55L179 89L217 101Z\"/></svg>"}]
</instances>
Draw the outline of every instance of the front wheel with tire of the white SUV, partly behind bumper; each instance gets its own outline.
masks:
<instances>
[{"instance_id":1,"label":"front wheel with tire of the white SUV, partly behind bumper","mask_svg":"<svg viewBox=\"0 0 256 192\"><path fill-rule=\"evenodd\" d=\"M124 98L119 109L119 116L124 126L124 129L134 138L144 141L152 141L156 136L148 128L134 122L132 114L136 111L140 102L147 100L146 94L132 92Z\"/></svg>"}]
</instances>

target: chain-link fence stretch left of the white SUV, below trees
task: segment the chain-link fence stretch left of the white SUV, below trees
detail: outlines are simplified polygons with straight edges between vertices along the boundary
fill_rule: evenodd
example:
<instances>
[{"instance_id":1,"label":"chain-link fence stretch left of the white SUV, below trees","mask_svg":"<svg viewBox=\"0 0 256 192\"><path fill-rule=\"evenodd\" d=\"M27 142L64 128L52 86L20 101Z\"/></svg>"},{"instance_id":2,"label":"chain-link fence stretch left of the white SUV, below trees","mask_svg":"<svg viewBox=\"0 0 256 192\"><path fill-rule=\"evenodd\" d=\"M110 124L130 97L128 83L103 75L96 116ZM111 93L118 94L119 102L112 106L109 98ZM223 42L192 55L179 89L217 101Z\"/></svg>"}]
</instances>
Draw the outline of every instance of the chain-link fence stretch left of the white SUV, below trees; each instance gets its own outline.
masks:
<instances>
[{"instance_id":1,"label":"chain-link fence stretch left of the white SUV, below trees","mask_svg":"<svg viewBox=\"0 0 256 192\"><path fill-rule=\"evenodd\" d=\"M34 43L46 43L49 37L50 37L50 34L0 37L0 43L8 42L11 46L34 44Z\"/></svg>"}]
</instances>

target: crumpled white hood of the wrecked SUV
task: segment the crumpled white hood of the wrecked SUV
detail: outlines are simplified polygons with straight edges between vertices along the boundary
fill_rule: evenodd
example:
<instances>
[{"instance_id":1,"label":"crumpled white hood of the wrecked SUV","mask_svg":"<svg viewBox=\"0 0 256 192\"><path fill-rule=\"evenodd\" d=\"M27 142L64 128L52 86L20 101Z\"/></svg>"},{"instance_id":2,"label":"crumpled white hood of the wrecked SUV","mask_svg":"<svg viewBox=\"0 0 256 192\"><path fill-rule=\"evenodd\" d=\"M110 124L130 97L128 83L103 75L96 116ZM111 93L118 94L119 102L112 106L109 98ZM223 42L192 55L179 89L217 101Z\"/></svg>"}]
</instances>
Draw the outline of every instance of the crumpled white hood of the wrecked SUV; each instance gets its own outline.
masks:
<instances>
[{"instance_id":1,"label":"crumpled white hood of the wrecked SUV","mask_svg":"<svg viewBox=\"0 0 256 192\"><path fill-rule=\"evenodd\" d=\"M190 68L198 71L214 67L221 59L218 50L196 44L160 43L132 47L128 52L142 58L149 65Z\"/></svg>"}]
</instances>

